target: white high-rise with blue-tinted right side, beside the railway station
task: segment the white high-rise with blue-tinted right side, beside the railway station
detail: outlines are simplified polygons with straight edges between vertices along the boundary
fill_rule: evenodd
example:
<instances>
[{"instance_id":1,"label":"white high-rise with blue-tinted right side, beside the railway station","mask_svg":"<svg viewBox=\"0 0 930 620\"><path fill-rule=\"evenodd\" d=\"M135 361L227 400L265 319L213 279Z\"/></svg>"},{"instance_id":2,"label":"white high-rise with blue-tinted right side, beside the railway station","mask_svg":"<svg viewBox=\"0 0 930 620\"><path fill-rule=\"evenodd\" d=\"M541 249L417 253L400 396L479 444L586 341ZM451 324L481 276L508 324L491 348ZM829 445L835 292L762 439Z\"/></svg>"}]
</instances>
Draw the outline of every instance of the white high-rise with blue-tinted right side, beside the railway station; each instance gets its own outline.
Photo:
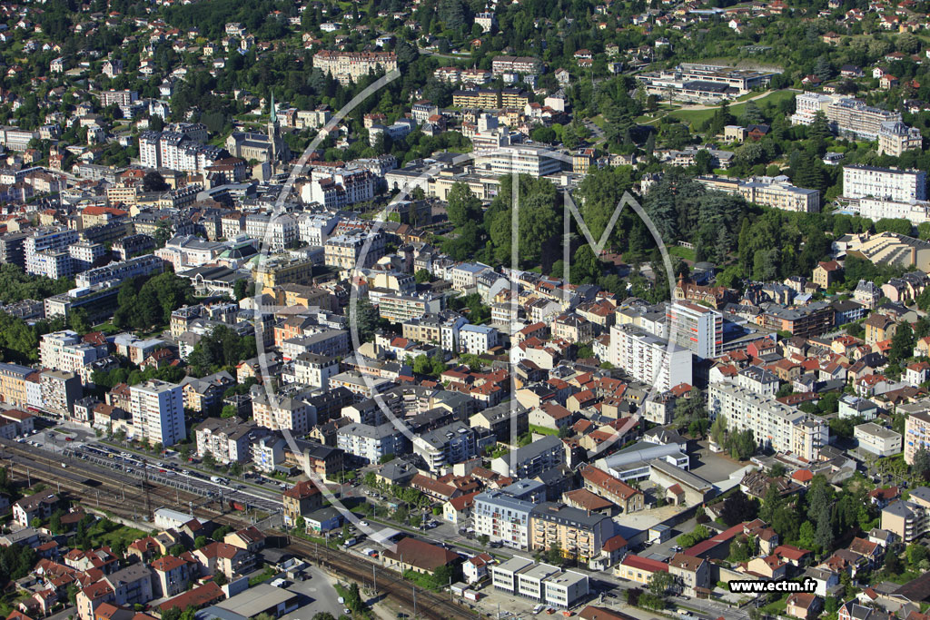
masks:
<instances>
[{"instance_id":1,"label":"white high-rise with blue-tinted right side, beside the railway station","mask_svg":"<svg viewBox=\"0 0 930 620\"><path fill-rule=\"evenodd\" d=\"M153 379L129 388L133 426L149 443L174 445L187 437L180 386Z\"/></svg>"}]
</instances>

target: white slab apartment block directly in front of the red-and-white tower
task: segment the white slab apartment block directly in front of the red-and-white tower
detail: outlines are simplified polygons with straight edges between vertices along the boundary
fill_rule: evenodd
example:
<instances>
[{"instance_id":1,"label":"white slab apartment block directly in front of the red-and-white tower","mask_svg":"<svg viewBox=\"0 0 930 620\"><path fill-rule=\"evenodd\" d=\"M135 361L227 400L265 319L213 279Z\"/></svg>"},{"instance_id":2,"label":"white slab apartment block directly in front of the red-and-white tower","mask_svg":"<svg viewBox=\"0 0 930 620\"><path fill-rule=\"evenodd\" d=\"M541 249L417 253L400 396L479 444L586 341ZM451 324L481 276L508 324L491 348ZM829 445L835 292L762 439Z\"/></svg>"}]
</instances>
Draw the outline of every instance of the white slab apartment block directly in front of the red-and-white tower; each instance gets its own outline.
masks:
<instances>
[{"instance_id":1,"label":"white slab apartment block directly in front of the red-and-white tower","mask_svg":"<svg viewBox=\"0 0 930 620\"><path fill-rule=\"evenodd\" d=\"M608 361L659 391L692 383L691 350L631 324L610 328Z\"/></svg>"}]
</instances>

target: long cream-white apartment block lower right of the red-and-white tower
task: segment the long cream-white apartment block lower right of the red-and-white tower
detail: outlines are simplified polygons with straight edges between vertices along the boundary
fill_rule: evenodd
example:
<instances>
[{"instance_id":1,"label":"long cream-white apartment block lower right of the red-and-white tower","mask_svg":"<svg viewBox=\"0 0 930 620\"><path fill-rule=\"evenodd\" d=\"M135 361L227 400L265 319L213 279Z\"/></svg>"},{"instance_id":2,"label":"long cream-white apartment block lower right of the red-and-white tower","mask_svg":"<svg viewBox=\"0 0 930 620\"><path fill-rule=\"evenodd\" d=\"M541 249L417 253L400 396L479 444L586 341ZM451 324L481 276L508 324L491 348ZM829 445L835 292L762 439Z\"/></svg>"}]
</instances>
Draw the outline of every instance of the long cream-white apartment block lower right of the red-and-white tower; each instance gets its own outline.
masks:
<instances>
[{"instance_id":1,"label":"long cream-white apartment block lower right of the red-and-white tower","mask_svg":"<svg viewBox=\"0 0 930 620\"><path fill-rule=\"evenodd\" d=\"M711 383L708 391L711 418L724 416L727 429L750 429L760 445L776 452L790 452L817 460L827 444L828 429L823 418L810 416L766 396L732 383Z\"/></svg>"}]
</instances>

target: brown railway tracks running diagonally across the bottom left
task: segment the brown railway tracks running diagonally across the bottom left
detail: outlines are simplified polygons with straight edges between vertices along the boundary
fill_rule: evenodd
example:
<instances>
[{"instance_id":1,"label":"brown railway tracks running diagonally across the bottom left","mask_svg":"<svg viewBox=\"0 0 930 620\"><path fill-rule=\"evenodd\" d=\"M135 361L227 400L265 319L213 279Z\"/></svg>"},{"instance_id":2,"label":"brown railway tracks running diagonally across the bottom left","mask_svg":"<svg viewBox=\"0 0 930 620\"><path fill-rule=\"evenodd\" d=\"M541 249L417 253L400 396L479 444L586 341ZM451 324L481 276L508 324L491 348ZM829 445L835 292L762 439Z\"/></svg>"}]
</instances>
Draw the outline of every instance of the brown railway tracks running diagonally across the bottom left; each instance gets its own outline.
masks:
<instances>
[{"instance_id":1,"label":"brown railway tracks running diagonally across the bottom left","mask_svg":"<svg viewBox=\"0 0 930 620\"><path fill-rule=\"evenodd\" d=\"M121 476L118 472L100 471L92 464L71 458L62 467L60 458L50 458L35 454L19 444L0 442L0 461L8 463L11 475L20 480L35 484L40 481L74 499L80 499L88 507L99 508L114 515L133 518L151 519L153 510L162 506L193 507L197 517L209 519L221 525L240 528L252 525L237 513L225 513L219 502L205 504L202 495L194 495L154 484L151 481ZM212 508L219 504L218 508ZM296 556L328 568L332 572L361 584L371 584L376 589L376 596L384 594L411 612L416 610L416 617L435 620L465 620L478 617L480 613L466 609L444 595L417 587L396 574L385 570L379 571L379 565L356 557L351 553L320 548L310 541L288 536L284 532L266 529L269 534L286 537L286 546Z\"/></svg>"}]
</instances>

